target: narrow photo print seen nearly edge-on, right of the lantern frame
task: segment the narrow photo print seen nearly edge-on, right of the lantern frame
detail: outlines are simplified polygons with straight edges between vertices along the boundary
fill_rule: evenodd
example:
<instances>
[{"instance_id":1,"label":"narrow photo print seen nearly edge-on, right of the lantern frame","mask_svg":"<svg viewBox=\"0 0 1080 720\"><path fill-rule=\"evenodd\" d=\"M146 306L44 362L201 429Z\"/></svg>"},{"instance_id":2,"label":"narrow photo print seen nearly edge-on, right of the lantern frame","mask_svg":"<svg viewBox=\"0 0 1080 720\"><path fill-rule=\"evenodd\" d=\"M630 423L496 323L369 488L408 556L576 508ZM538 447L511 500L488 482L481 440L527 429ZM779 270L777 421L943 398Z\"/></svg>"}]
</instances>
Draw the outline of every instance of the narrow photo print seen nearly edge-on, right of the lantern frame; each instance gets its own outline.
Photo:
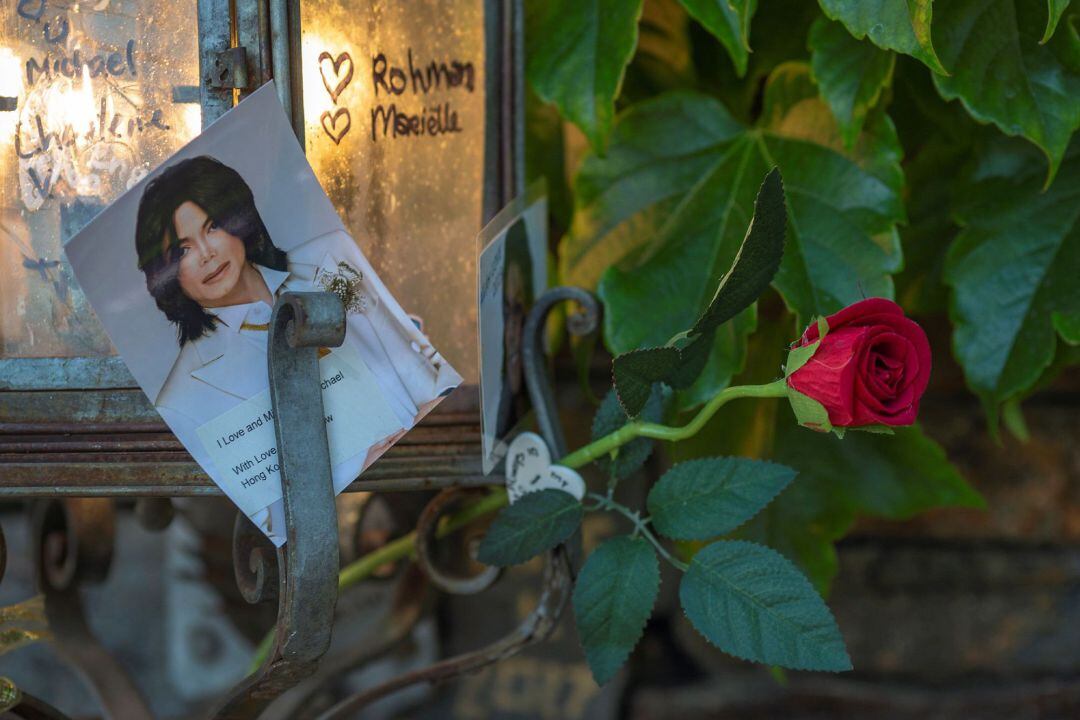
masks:
<instances>
[{"instance_id":1,"label":"narrow photo print seen nearly edge-on, right of the lantern frame","mask_svg":"<svg viewBox=\"0 0 1080 720\"><path fill-rule=\"evenodd\" d=\"M542 181L481 231L477 263L483 467L507 453L507 439L531 409L525 389L525 316L548 288L548 200Z\"/></svg>"}]
</instances>

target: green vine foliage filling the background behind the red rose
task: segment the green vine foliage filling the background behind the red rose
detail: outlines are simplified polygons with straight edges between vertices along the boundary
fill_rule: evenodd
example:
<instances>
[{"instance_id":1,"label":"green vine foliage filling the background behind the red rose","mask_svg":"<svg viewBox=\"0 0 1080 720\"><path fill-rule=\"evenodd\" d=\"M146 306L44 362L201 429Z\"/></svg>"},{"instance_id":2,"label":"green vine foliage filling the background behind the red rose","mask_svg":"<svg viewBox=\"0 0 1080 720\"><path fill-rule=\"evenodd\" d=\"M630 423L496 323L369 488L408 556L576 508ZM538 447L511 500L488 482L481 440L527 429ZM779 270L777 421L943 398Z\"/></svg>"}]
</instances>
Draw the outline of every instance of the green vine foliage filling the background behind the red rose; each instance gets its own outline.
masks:
<instances>
[{"instance_id":1,"label":"green vine foliage filling the background behind the red rose","mask_svg":"<svg viewBox=\"0 0 1080 720\"><path fill-rule=\"evenodd\" d=\"M810 318L864 296L950 318L953 355L991 432L1002 408L1080 357L1077 3L526 5L528 171L548 178L559 280L599 294L613 354L693 324L761 178L783 173L787 246L773 289L716 332L705 371L669 413L735 379L779 377ZM779 549L819 589L859 515L982 503L918 427L841 441L789 413L735 404L672 452L796 468L737 534Z\"/></svg>"}]
</instances>

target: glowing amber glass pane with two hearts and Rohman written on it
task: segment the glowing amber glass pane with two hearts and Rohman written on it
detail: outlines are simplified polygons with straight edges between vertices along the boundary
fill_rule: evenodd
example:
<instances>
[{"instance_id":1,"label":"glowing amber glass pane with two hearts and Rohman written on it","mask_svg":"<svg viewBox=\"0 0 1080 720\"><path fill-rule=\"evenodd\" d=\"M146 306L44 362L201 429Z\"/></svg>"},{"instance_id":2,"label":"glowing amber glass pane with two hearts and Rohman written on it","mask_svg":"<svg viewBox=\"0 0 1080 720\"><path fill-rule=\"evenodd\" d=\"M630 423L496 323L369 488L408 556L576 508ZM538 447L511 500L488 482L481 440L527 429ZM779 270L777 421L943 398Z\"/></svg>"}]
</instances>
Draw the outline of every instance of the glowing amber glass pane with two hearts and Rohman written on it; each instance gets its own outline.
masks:
<instances>
[{"instance_id":1,"label":"glowing amber glass pane with two hearts and Rohman written on it","mask_svg":"<svg viewBox=\"0 0 1080 720\"><path fill-rule=\"evenodd\" d=\"M476 382L483 0L305 0L308 159L383 282Z\"/></svg>"}]
</instances>

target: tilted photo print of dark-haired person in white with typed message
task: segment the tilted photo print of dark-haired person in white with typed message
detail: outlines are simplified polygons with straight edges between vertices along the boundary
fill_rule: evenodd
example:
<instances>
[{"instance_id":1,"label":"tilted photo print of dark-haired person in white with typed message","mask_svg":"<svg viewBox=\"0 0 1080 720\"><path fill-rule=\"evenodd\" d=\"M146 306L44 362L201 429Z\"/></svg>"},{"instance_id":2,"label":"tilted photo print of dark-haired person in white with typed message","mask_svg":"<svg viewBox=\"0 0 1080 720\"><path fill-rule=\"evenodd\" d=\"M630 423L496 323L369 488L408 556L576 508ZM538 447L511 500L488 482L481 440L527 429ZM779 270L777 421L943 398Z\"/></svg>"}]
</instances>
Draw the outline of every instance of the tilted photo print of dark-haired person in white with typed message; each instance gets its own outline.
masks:
<instances>
[{"instance_id":1,"label":"tilted photo print of dark-haired person in white with typed message","mask_svg":"<svg viewBox=\"0 0 1080 720\"><path fill-rule=\"evenodd\" d=\"M346 231L272 84L103 210L67 243L120 355L192 458L285 542L267 370L274 301L327 290L346 308L320 350L334 490L341 492L461 378Z\"/></svg>"}]
</instances>

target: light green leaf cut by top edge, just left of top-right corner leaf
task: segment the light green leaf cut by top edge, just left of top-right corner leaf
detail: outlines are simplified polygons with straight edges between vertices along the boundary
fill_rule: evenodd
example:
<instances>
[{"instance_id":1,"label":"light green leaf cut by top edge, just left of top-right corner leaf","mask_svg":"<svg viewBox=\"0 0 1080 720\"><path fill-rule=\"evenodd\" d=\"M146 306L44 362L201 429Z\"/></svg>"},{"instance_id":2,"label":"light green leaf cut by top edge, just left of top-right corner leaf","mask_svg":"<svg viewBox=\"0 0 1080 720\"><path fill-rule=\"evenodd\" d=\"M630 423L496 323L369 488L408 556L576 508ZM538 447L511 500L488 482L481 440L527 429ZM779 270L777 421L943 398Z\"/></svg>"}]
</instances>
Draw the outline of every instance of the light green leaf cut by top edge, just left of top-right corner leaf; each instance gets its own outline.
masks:
<instances>
[{"instance_id":1,"label":"light green leaf cut by top edge, just left of top-right corner leaf","mask_svg":"<svg viewBox=\"0 0 1080 720\"><path fill-rule=\"evenodd\" d=\"M951 0L950 0L951 1ZM894 50L945 72L930 38L931 0L820 0L822 10L855 38ZM945 3L948 4L948 3Z\"/></svg>"}]
</instances>

